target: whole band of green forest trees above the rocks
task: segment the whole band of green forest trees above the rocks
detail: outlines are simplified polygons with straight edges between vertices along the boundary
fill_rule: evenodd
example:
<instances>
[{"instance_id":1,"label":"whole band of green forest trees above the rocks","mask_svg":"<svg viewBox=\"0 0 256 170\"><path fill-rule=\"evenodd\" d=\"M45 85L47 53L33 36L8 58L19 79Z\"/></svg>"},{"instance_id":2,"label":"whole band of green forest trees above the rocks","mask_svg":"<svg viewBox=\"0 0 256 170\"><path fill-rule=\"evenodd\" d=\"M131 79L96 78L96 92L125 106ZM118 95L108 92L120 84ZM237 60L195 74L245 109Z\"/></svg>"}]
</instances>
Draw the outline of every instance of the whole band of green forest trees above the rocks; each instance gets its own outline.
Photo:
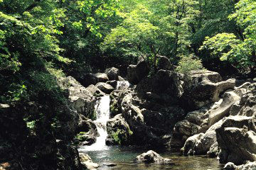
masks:
<instances>
[{"instance_id":1,"label":"whole band of green forest trees above the rocks","mask_svg":"<svg viewBox=\"0 0 256 170\"><path fill-rule=\"evenodd\" d=\"M55 77L138 58L152 72L166 56L178 72L255 74L253 0L1 0L0 9L0 103L58 94Z\"/></svg>"}]
</instances>

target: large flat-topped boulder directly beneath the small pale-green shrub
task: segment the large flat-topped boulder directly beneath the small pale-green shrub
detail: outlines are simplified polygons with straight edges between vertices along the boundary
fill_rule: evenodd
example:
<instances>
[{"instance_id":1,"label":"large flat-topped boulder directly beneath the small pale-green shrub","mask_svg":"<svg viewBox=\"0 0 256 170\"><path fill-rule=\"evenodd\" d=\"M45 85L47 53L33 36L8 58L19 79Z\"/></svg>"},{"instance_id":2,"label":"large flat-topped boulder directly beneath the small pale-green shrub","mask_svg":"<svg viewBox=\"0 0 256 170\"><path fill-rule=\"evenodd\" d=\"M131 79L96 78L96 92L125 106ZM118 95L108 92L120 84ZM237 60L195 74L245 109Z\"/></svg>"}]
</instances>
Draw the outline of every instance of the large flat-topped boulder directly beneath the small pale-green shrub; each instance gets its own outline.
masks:
<instances>
[{"instance_id":1,"label":"large flat-topped boulder directly beneath the small pale-green shrub","mask_svg":"<svg viewBox=\"0 0 256 170\"><path fill-rule=\"evenodd\" d=\"M220 98L220 93L235 88L235 79L222 81L220 74L210 71L192 71L186 80L183 100L191 109L198 109Z\"/></svg>"}]
</instances>

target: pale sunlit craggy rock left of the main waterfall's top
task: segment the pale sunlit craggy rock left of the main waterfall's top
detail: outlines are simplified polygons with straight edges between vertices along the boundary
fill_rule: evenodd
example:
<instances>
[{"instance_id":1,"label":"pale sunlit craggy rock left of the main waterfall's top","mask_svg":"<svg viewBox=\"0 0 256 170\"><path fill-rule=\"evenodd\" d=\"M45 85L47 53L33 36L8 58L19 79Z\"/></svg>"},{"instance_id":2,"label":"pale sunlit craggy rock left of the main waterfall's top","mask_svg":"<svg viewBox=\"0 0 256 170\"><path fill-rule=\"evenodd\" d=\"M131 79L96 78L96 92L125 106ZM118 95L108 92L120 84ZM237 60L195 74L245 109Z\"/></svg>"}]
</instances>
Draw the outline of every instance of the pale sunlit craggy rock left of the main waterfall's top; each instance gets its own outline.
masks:
<instances>
[{"instance_id":1,"label":"pale sunlit craggy rock left of the main waterfall's top","mask_svg":"<svg viewBox=\"0 0 256 170\"><path fill-rule=\"evenodd\" d=\"M68 91L68 101L79 114L85 115L87 118L94 117L94 106L96 98L90 91L85 89L73 77L65 77L58 79L61 88Z\"/></svg>"}]
</instances>

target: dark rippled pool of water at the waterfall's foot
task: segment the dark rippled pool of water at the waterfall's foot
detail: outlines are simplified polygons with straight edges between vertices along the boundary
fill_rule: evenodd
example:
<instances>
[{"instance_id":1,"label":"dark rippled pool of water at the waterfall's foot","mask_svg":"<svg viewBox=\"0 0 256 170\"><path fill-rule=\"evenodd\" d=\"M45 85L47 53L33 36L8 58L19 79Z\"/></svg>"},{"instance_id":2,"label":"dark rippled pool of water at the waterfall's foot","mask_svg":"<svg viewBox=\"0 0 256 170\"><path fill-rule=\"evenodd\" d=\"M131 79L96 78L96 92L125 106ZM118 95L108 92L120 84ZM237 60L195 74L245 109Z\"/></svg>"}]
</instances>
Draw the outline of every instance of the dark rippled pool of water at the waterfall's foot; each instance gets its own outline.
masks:
<instances>
[{"instance_id":1,"label":"dark rippled pool of water at the waterfall's foot","mask_svg":"<svg viewBox=\"0 0 256 170\"><path fill-rule=\"evenodd\" d=\"M171 152L168 150L153 149L158 152L161 157L173 159L175 165L157 165L157 164L137 164L134 162L137 155L147 152L148 148L143 147L105 147L105 150L95 150L86 152L83 149L80 152L86 152L90 155L93 162L100 165L98 169L120 169L120 170L165 170L165 169L180 169L180 170L220 170L223 165L219 164L217 159L210 159L206 157L189 156L183 157L178 152ZM107 166L107 164L114 163L117 166Z\"/></svg>"}]
</instances>

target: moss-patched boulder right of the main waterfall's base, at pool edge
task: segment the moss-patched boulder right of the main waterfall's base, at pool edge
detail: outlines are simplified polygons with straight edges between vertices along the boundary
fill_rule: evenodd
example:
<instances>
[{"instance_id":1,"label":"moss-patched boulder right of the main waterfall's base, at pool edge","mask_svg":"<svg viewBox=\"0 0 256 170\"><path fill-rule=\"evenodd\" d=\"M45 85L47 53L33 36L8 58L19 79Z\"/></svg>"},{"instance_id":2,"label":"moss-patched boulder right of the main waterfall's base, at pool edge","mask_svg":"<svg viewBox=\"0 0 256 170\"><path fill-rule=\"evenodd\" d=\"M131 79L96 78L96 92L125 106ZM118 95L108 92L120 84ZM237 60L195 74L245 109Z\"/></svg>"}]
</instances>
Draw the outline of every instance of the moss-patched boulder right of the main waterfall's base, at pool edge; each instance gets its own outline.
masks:
<instances>
[{"instance_id":1,"label":"moss-patched boulder right of the main waterfall's base, at pool edge","mask_svg":"<svg viewBox=\"0 0 256 170\"><path fill-rule=\"evenodd\" d=\"M107 145L128 145L133 132L122 114L119 114L107 121L107 134Z\"/></svg>"}]
</instances>

